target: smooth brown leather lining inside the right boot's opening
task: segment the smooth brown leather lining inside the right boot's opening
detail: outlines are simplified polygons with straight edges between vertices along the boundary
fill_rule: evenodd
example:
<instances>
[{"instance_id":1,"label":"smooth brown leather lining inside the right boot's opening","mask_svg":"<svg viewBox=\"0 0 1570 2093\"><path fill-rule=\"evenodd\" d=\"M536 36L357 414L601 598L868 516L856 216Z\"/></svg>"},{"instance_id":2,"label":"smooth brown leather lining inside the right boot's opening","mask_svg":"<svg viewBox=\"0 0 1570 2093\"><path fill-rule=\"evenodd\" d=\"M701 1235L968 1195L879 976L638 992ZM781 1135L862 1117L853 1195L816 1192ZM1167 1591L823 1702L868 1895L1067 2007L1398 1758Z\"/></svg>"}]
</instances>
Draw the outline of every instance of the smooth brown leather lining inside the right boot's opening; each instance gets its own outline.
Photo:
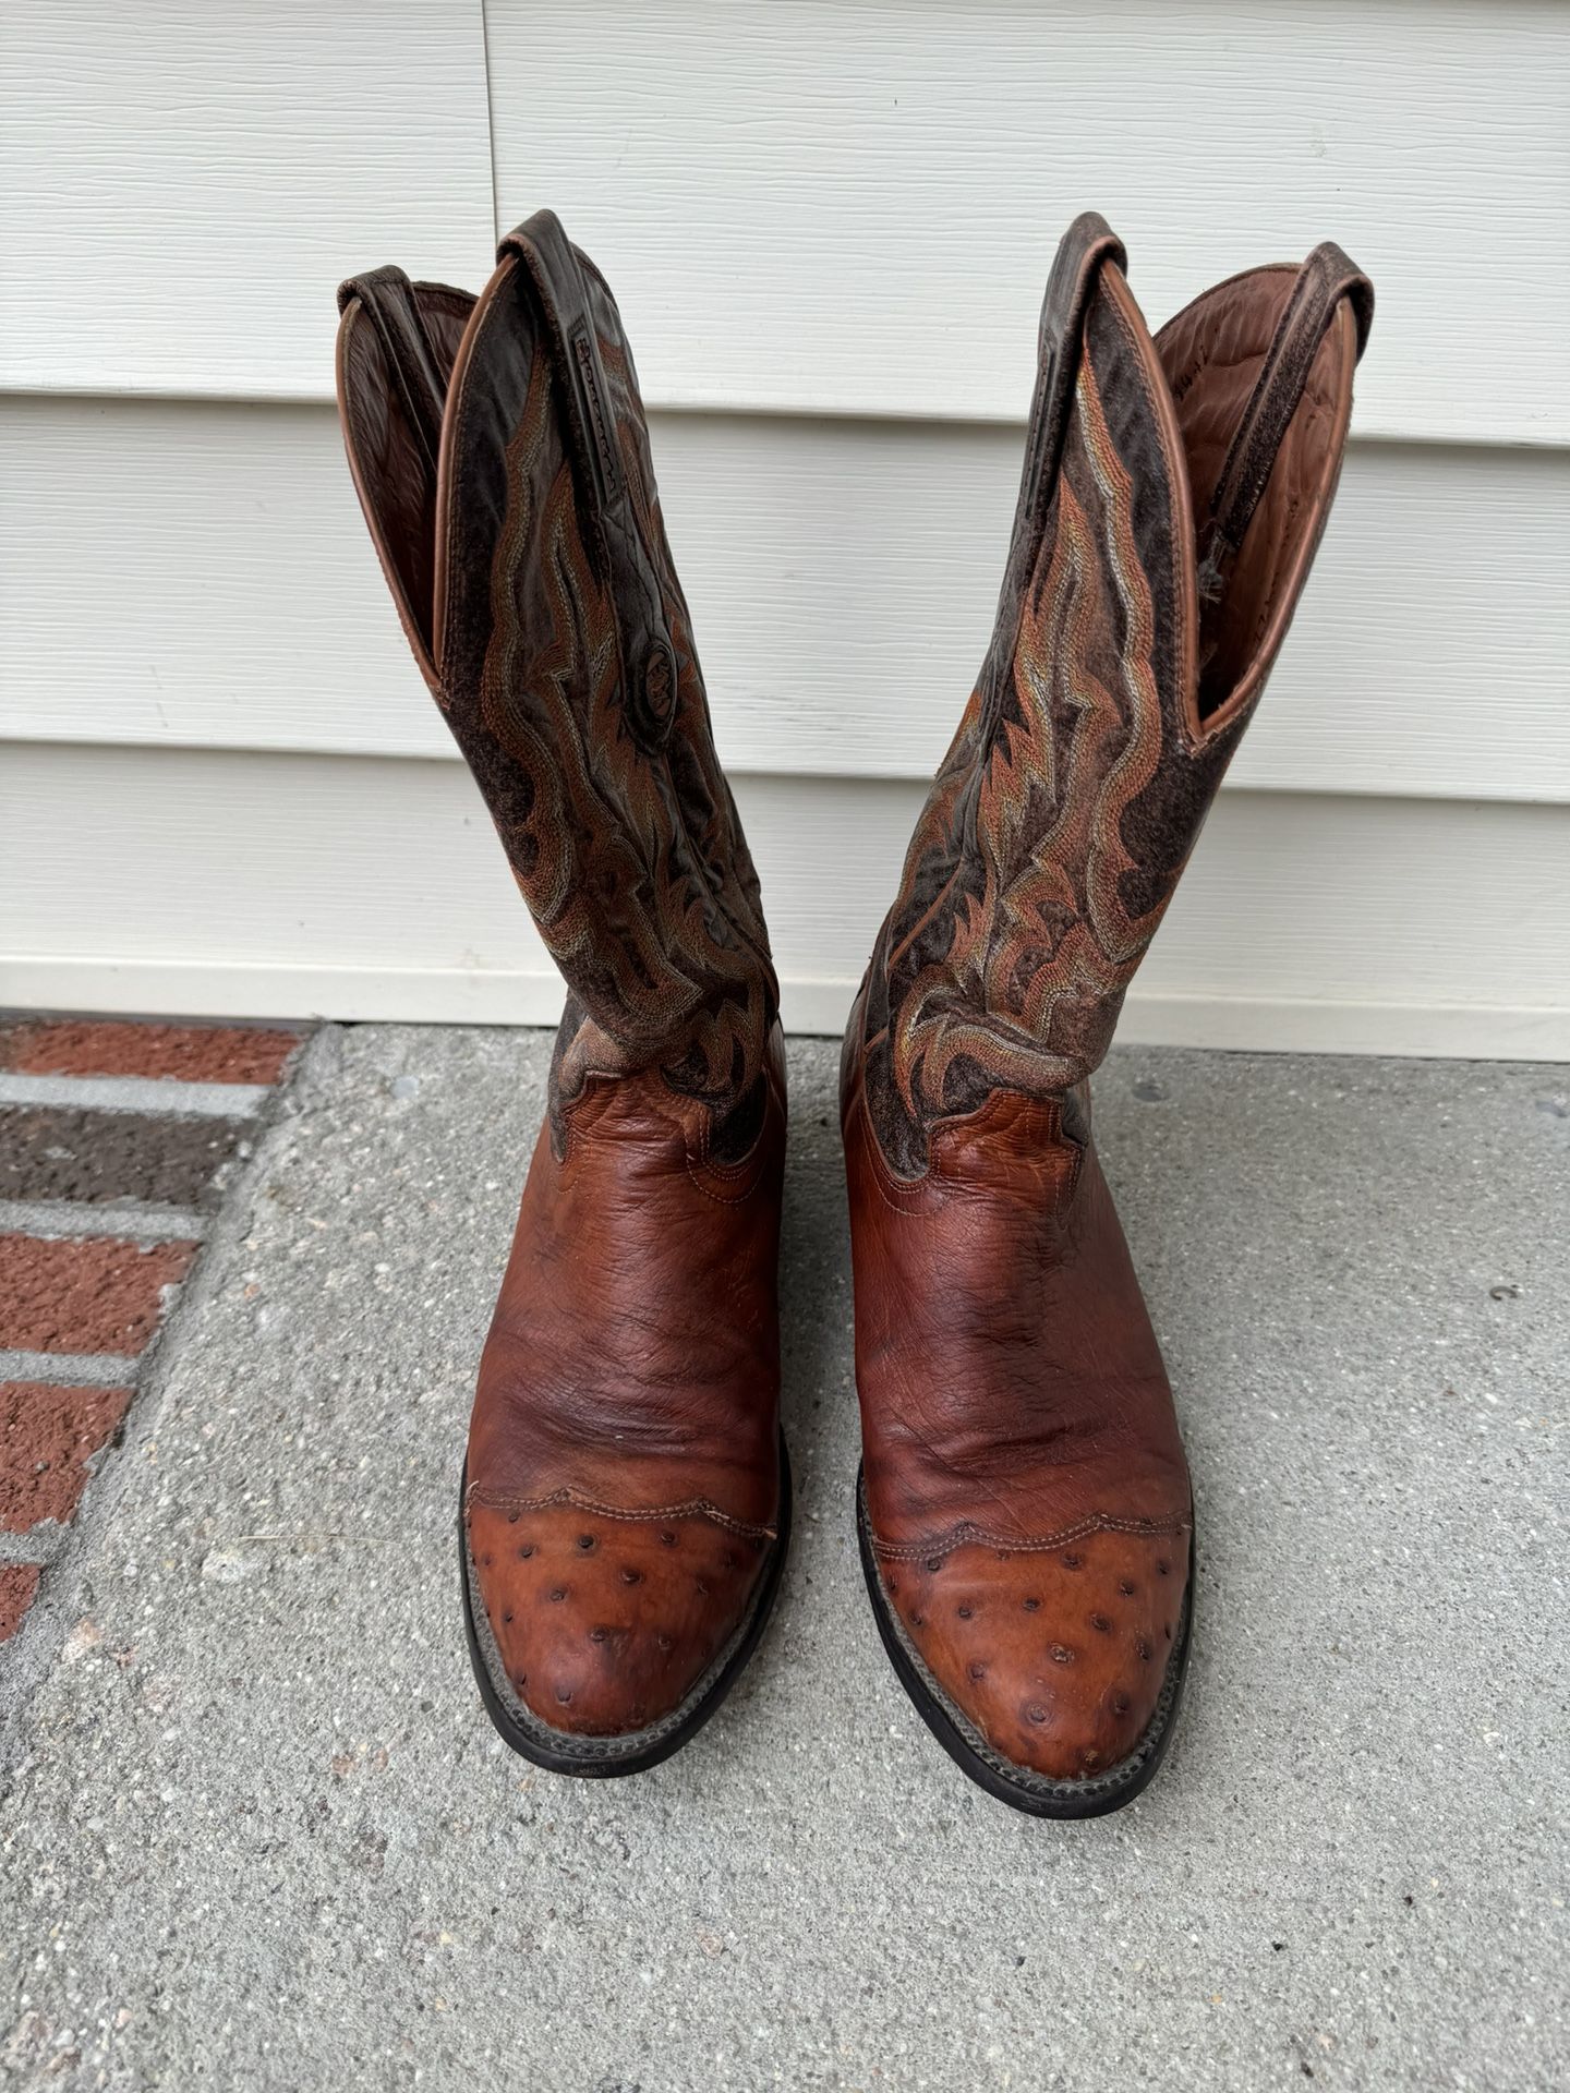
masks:
<instances>
[{"instance_id":1,"label":"smooth brown leather lining inside the right boot's opening","mask_svg":"<svg viewBox=\"0 0 1570 2093\"><path fill-rule=\"evenodd\" d=\"M1237 423L1296 276L1294 268L1262 268L1216 285L1156 337L1187 452L1199 542ZM1348 393L1354 358L1354 331L1342 308L1319 345L1237 561L1220 594L1199 599L1202 720L1220 712L1258 661L1273 636L1287 582L1300 571L1304 550L1313 550L1329 492L1325 477L1340 444L1340 402Z\"/></svg>"}]
</instances>

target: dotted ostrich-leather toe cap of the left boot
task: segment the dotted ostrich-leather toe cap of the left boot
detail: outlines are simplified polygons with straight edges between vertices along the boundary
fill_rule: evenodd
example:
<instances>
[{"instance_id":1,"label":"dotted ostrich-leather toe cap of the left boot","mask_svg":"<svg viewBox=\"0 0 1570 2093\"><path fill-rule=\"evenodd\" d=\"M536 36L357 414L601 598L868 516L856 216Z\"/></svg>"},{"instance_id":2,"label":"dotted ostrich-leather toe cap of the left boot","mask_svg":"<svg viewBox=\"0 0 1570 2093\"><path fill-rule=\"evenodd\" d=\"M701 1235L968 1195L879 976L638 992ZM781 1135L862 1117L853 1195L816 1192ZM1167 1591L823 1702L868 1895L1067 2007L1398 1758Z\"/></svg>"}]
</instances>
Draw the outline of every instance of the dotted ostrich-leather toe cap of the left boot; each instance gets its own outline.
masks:
<instances>
[{"instance_id":1,"label":"dotted ostrich-leather toe cap of the left boot","mask_svg":"<svg viewBox=\"0 0 1570 2093\"><path fill-rule=\"evenodd\" d=\"M766 1553L695 1517L469 1513L494 1670L571 1737L632 1735L678 1710L745 1622Z\"/></svg>"}]
</instances>

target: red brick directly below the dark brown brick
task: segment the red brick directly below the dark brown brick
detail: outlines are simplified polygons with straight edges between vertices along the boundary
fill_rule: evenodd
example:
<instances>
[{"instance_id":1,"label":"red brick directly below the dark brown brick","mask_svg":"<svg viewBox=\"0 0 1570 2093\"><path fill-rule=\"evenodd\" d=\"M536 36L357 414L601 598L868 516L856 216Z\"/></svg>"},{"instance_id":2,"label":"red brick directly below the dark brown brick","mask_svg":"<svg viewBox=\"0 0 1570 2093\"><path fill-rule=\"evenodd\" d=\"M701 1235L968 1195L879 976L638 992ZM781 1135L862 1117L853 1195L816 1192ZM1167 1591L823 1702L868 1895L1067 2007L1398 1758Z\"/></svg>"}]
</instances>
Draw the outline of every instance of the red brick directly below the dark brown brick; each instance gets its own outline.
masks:
<instances>
[{"instance_id":1,"label":"red brick directly below the dark brown brick","mask_svg":"<svg viewBox=\"0 0 1570 2093\"><path fill-rule=\"evenodd\" d=\"M0 1235L0 1350L132 1356L157 1329L161 1289L195 1254L195 1243Z\"/></svg>"}]
</instances>

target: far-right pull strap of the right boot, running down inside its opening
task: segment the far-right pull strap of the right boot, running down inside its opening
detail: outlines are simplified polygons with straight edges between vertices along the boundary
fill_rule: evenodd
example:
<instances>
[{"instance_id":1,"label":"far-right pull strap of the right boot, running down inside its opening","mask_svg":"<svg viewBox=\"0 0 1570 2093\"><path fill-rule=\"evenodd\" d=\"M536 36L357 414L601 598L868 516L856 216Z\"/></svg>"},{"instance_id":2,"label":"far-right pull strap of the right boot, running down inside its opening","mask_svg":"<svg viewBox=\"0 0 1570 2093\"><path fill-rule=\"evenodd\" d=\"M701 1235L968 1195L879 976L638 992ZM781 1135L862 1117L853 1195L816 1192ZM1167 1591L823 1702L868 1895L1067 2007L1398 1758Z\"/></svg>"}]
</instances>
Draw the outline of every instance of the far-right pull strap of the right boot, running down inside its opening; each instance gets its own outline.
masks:
<instances>
[{"instance_id":1,"label":"far-right pull strap of the right boot, running down inside its opening","mask_svg":"<svg viewBox=\"0 0 1570 2093\"><path fill-rule=\"evenodd\" d=\"M1210 525L1199 546L1199 594L1214 597L1248 536L1254 511L1271 479L1281 440L1302 404L1319 343L1329 333L1342 299L1352 301L1356 354L1373 324L1373 285L1333 241L1308 255L1292 285L1292 297L1264 352L1258 383L1237 423L1216 492L1210 496Z\"/></svg>"}]
</instances>

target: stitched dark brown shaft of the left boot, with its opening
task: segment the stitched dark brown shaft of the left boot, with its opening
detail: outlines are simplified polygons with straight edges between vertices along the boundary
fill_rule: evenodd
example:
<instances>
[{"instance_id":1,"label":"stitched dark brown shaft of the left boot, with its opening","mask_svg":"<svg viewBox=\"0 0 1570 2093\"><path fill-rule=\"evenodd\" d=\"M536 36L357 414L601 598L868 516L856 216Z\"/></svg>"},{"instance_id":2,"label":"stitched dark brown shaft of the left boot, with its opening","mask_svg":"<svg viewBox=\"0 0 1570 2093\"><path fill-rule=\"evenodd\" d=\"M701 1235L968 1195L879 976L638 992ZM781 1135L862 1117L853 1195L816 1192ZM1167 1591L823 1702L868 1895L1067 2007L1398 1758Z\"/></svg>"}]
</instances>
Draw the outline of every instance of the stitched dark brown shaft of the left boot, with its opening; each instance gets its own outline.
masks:
<instances>
[{"instance_id":1,"label":"stitched dark brown shaft of the left boot, with its opening","mask_svg":"<svg viewBox=\"0 0 1570 2093\"><path fill-rule=\"evenodd\" d=\"M779 988L615 299L540 211L477 299L375 270L339 310L371 536L567 982L553 1118L659 1072L737 1153Z\"/></svg>"}]
</instances>

